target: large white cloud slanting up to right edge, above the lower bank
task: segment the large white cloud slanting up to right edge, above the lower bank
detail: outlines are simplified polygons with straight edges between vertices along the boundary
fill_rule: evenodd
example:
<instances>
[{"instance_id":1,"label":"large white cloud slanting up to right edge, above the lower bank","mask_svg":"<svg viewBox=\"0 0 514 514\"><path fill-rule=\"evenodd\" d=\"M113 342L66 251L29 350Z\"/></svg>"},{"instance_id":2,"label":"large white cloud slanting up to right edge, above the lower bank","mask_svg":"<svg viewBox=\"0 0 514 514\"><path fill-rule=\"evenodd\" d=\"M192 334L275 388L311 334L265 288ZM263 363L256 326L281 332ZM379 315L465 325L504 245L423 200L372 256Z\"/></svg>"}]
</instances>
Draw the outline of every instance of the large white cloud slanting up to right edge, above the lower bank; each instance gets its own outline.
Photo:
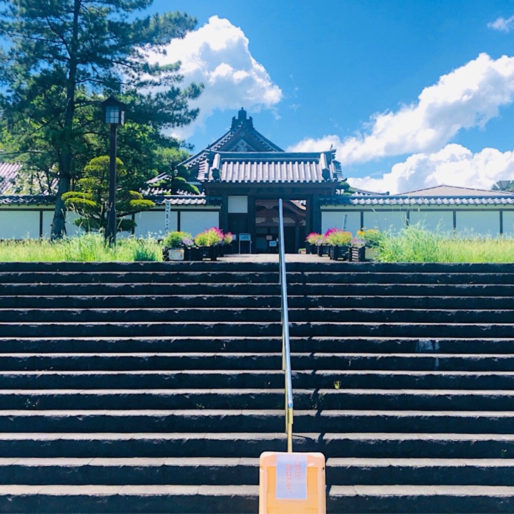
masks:
<instances>
[{"instance_id":1,"label":"large white cloud slanting up to right edge, above the lower bank","mask_svg":"<svg viewBox=\"0 0 514 514\"><path fill-rule=\"evenodd\" d=\"M369 130L343 140L336 135L304 139L288 150L325 150L332 143L343 164L435 152L463 128L485 127L513 98L514 58L493 60L481 53L423 89L416 103L374 115Z\"/></svg>"}]
</instances>

